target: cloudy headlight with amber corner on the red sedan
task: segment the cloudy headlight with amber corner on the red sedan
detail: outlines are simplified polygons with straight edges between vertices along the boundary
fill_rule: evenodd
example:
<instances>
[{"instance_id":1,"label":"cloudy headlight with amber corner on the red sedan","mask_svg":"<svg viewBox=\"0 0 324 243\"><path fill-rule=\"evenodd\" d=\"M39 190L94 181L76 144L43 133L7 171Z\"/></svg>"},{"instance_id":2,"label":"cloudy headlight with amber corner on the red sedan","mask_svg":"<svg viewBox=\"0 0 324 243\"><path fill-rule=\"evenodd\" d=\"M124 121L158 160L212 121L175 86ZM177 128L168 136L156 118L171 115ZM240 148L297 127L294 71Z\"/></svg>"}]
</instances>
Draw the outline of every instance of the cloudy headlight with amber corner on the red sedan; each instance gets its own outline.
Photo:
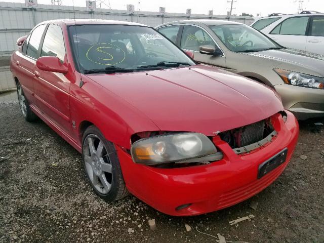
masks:
<instances>
[{"instance_id":1,"label":"cloudy headlight with amber corner on the red sedan","mask_svg":"<svg viewBox=\"0 0 324 243\"><path fill-rule=\"evenodd\" d=\"M131 148L133 161L139 164L191 163L223 158L204 134L177 133L140 139Z\"/></svg>"}]
</instances>

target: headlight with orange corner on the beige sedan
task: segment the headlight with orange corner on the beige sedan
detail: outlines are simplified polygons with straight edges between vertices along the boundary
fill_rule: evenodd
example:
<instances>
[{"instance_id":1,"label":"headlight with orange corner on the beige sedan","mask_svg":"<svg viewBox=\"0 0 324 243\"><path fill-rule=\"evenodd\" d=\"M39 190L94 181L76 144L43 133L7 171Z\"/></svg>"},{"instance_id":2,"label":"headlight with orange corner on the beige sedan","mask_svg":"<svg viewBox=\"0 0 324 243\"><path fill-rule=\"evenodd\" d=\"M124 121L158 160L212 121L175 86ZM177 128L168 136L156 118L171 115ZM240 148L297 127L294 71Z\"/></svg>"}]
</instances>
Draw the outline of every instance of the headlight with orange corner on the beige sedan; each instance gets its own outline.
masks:
<instances>
[{"instance_id":1,"label":"headlight with orange corner on the beige sedan","mask_svg":"<svg viewBox=\"0 0 324 243\"><path fill-rule=\"evenodd\" d=\"M323 77L317 77L278 68L274 68L273 70L281 77L282 80L284 80L286 84L315 89L324 89Z\"/></svg>"}]
</instances>

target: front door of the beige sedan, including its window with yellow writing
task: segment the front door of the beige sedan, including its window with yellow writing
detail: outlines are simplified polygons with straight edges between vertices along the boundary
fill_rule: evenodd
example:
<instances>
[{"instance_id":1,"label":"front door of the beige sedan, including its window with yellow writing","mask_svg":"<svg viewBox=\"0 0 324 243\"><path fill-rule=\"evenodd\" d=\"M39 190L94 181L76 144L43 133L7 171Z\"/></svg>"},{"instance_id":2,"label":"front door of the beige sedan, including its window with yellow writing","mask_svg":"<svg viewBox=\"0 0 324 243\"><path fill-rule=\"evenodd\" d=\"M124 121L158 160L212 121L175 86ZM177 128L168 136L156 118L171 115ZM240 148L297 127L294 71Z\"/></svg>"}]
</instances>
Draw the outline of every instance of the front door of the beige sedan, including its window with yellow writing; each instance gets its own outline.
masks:
<instances>
[{"instance_id":1,"label":"front door of the beige sedan, including its window with yellow writing","mask_svg":"<svg viewBox=\"0 0 324 243\"><path fill-rule=\"evenodd\" d=\"M197 62L225 67L225 56L213 56L199 52L199 47L205 45L217 46L214 39L203 28L194 25L184 26L180 48L184 51L193 52L194 60Z\"/></svg>"}]
</instances>

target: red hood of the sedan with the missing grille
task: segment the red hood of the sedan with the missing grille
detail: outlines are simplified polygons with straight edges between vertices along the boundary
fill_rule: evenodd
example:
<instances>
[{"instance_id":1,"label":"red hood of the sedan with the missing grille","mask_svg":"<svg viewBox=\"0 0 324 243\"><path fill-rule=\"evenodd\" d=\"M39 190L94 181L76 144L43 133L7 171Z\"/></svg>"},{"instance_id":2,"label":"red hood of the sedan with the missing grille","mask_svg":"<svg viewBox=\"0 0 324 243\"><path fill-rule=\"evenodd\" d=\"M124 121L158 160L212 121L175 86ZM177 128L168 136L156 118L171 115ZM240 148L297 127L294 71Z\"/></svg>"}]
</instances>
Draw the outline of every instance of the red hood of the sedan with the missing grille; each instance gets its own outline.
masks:
<instances>
[{"instance_id":1,"label":"red hood of the sedan with the missing grille","mask_svg":"<svg viewBox=\"0 0 324 243\"><path fill-rule=\"evenodd\" d=\"M211 66L87 76L136 107L162 131L213 135L283 109L271 89Z\"/></svg>"}]
</instances>

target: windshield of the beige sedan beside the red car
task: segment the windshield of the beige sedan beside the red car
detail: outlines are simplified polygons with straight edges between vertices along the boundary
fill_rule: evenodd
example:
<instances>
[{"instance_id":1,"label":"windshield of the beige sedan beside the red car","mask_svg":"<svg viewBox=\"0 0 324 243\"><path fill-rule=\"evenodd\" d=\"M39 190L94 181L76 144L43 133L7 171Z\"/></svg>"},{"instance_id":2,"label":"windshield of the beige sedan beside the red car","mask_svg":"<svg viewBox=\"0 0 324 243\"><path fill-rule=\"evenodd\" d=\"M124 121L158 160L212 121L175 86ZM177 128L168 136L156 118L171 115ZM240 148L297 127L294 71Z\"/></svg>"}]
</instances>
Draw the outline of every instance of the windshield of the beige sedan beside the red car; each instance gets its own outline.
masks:
<instances>
[{"instance_id":1,"label":"windshield of the beige sedan beside the red car","mask_svg":"<svg viewBox=\"0 0 324 243\"><path fill-rule=\"evenodd\" d=\"M281 48L270 38L244 24L213 25L210 28L233 52L258 52Z\"/></svg>"}]
</instances>

